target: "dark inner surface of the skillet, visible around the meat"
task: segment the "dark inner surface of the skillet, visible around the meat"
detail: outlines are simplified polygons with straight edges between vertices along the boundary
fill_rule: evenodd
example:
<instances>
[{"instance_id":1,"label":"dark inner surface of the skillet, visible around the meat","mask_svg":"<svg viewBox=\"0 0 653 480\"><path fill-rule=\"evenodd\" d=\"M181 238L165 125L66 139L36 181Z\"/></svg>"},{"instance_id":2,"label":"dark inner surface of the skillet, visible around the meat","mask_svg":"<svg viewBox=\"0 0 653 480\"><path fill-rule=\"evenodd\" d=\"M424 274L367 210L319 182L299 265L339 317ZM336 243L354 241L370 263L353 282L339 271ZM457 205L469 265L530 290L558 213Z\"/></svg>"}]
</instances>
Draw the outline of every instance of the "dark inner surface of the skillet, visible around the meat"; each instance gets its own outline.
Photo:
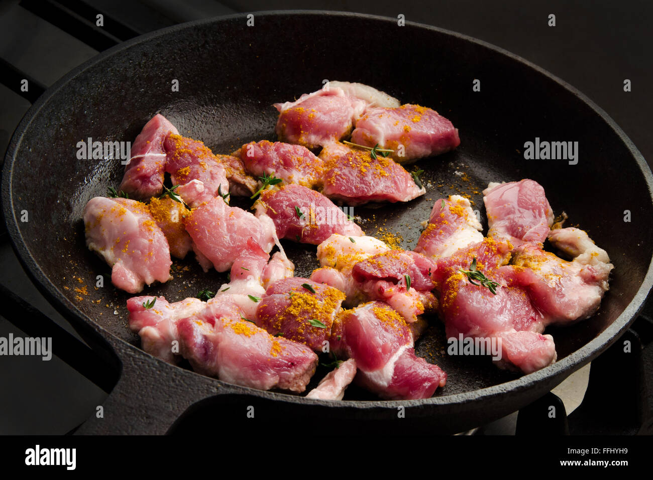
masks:
<instances>
[{"instance_id":1,"label":"dark inner surface of the skillet, visible around the meat","mask_svg":"<svg viewBox=\"0 0 653 480\"><path fill-rule=\"evenodd\" d=\"M434 201L453 193L469 195L486 226L481 191L488 182L532 178L545 188L554 213L567 213L566 226L588 231L614 264L599 312L548 331L558 359L596 338L633 300L653 254L653 231L644 227L653 210L645 176L611 125L573 91L483 44L351 15L257 16L255 27L244 18L182 25L101 56L60 84L14 138L10 200L16 219L28 212L28 221L17 220L28 268L74 312L138 345L127 327L131 295L112 287L108 266L85 246L81 220L89 199L118 187L124 167L116 159L78 159L78 142L133 142L160 112L182 135L229 153L251 140L274 140L272 104L315 91L325 79L369 84L402 103L434 108L460 131L454 152L407 167L424 170L426 195L354 209L366 234L411 249ZM481 91L473 91L475 79ZM524 159L524 142L535 138L578 142L578 163ZM314 246L284 247L297 276L317 267ZM175 260L172 271L173 281L146 287L144 295L177 301L215 291L226 280L213 270L204 274L192 255ZM516 377L486 358L449 357L441 323L430 320L417 353L449 374L436 395ZM372 397L352 388L345 398Z\"/></svg>"}]
</instances>

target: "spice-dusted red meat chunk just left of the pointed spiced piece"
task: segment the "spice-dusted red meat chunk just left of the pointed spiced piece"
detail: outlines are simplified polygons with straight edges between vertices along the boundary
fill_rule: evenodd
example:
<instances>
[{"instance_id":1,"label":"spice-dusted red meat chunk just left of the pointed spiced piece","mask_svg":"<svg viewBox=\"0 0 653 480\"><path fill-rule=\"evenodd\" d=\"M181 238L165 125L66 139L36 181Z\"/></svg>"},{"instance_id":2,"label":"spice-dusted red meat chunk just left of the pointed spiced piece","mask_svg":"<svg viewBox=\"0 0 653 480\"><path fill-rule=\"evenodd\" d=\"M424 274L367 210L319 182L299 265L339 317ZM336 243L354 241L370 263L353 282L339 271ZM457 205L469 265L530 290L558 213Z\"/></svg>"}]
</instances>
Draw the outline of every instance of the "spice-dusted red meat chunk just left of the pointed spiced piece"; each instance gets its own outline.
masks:
<instances>
[{"instance_id":1,"label":"spice-dusted red meat chunk just left of the pointed spiced piece","mask_svg":"<svg viewBox=\"0 0 653 480\"><path fill-rule=\"evenodd\" d=\"M322 160L301 145L261 140L243 145L238 155L254 176L274 175L286 184L322 186Z\"/></svg>"}]
</instances>

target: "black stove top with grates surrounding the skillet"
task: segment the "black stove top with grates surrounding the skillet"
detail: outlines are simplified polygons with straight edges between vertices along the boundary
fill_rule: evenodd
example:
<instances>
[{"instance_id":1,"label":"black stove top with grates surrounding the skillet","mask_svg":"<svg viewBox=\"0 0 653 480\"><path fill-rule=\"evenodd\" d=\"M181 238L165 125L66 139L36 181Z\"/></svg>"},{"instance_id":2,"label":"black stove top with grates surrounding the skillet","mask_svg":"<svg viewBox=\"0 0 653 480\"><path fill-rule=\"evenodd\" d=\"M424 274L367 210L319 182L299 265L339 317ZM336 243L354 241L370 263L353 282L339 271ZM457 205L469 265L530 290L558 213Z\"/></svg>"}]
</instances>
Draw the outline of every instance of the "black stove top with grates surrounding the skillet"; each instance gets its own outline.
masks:
<instances>
[{"instance_id":1,"label":"black stove top with grates surrounding the skillet","mask_svg":"<svg viewBox=\"0 0 653 480\"><path fill-rule=\"evenodd\" d=\"M653 159L650 131L653 121L653 83L649 31L653 4L610 1L587 5L566 1L518 0L445 1L440 8L420 3L344 1L338 10L396 17L436 25L496 44L549 70L594 100L624 129L647 159ZM18 122L45 88L80 63L121 41L163 27L236 12L316 8L334 9L326 2L302 1L176 1L176 0L22 0L0 6L0 152ZM556 26L549 27L550 14ZM103 25L97 25L98 15ZM28 80L29 89L21 91ZM624 92L624 80L631 91ZM0 235L0 284L16 293L80 342L72 327L39 294L24 274L6 234ZM10 315L7 315L8 317ZM20 315L19 315L20 316ZM27 315L29 317L29 315ZM592 362L587 391L581 405L569 415L557 415L545 424L542 409L565 406L558 396L541 400L499 421L465 434L635 434L653 432L653 302L626 332L635 355L624 355L622 344ZM16 321L26 325L25 318ZM31 321L29 318L27 321ZM36 323L32 324L34 328ZM61 330L60 330L61 331ZM18 327L0 317L0 336L25 336ZM641 348L638 345L648 345ZM71 346L71 349L74 347ZM106 392L54 357L0 357L0 385L10 394L0 396L0 434L63 434L95 413ZM606 388L605 379L619 379L620 389ZM648 380L648 383L647 383ZM579 387L584 389L584 384ZM580 393L582 395L582 391ZM611 414L605 415L605 405ZM600 419L600 421L597 421ZM182 430L202 428L190 419ZM201 422L201 421L200 421Z\"/></svg>"}]
</instances>

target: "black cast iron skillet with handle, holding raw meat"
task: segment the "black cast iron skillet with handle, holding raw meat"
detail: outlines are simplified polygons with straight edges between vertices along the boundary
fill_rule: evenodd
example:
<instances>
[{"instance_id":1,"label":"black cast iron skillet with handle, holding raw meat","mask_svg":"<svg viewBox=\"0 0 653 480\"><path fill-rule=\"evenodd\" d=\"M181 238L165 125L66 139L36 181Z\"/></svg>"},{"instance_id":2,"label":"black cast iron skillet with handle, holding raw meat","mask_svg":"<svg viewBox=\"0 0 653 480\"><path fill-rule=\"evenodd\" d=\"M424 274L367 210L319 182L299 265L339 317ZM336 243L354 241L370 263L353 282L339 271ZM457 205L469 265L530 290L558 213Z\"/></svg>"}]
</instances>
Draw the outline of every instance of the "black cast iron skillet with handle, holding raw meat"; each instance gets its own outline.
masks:
<instances>
[{"instance_id":1,"label":"black cast iron skillet with handle, holding raw meat","mask_svg":"<svg viewBox=\"0 0 653 480\"><path fill-rule=\"evenodd\" d=\"M486 358L448 357L443 328L432 319L417 349L447 371L445 389L426 400L383 402L351 387L345 400L323 402L236 387L140 350L127 328L129 295L110 285L107 266L86 249L80 220L91 197L119 184L123 167L112 159L77 159L77 143L133 141L161 112L182 135L204 140L216 153L232 152L250 140L274 139L272 103L314 91L325 79L362 82L403 103L430 106L460 129L455 152L417 164L425 170L426 195L357 208L368 234L400 232L401 246L412 248L419 221L441 195L470 193L485 216L479 192L488 182L532 178L545 187L556 214L567 212L567 225L581 225L609 252L615 268L600 312L550 330L556 363L518 377ZM474 79L481 80L479 92L472 90ZM172 80L179 91L172 91ZM535 137L579 142L578 164L525 160L524 142ZM98 348L106 342L121 365L104 418L93 417L78 432L162 433L193 404L191 413L200 409L218 422L245 423L247 406L255 406L261 422L322 417L333 428L385 431L400 424L406 431L456 432L539 398L628 327L653 282L652 231L645 227L653 216L652 184L641 154L605 112L535 65L434 27L313 11L257 14L253 27L244 15L178 25L88 61L25 115L8 149L2 193L8 232L35 283L89 342ZM624 210L631 211L630 223ZM296 274L308 276L317 264L315 248L286 247ZM180 300L224 280L203 274L190 258L175 265L174 281L144 293ZM105 286L95 289L99 274ZM76 291L84 287L88 295ZM400 406L406 411L398 420Z\"/></svg>"}]
</instances>

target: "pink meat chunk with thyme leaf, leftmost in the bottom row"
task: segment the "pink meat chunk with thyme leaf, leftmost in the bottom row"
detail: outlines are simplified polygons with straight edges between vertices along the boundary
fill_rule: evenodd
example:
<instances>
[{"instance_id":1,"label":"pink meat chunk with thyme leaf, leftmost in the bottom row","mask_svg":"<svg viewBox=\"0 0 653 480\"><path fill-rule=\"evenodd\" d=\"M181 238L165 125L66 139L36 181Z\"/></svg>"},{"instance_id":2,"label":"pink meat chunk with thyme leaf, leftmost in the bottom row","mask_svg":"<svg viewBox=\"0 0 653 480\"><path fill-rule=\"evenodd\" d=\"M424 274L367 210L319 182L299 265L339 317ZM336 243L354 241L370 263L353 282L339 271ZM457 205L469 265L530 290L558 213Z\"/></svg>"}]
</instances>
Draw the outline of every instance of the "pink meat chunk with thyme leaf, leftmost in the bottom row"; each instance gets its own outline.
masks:
<instances>
[{"instance_id":1,"label":"pink meat chunk with thyme leaf, leftmost in the bottom row","mask_svg":"<svg viewBox=\"0 0 653 480\"><path fill-rule=\"evenodd\" d=\"M151 308L145 308L154 300ZM179 351L173 351L172 342L179 340L177 322L206 308L199 298L186 298L168 303L163 296L135 296L127 300L129 328L140 336L141 346L150 355L176 363Z\"/></svg>"}]
</instances>

